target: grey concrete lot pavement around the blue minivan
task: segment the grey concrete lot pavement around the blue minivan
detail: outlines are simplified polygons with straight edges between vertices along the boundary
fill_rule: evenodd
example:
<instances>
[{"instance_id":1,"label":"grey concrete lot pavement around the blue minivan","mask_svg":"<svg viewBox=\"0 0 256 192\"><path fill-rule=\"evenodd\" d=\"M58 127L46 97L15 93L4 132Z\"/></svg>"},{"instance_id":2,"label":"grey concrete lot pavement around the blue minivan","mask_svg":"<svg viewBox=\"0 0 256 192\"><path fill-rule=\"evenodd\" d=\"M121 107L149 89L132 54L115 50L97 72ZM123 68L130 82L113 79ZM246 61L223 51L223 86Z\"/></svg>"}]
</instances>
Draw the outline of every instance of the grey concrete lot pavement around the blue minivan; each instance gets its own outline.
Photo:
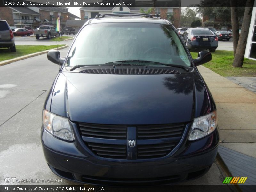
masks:
<instances>
[{"instance_id":1,"label":"grey concrete lot pavement around the blue minivan","mask_svg":"<svg viewBox=\"0 0 256 192\"><path fill-rule=\"evenodd\" d=\"M15 38L17 45L24 42L27 44L54 43L44 39ZM69 45L71 43L72 40L58 42L58 44ZM60 50L62 56L67 52L68 48ZM58 65L47 60L46 54L0 67L0 185L26 184L6 182L5 178L8 177L44 179L44 181L33 183L36 185L78 184L65 179L59 183L45 181L60 179L48 168L40 142L42 108L58 69ZM181 185L224 185L222 182L225 177L218 162L214 162L209 172L203 177L181 183Z\"/></svg>"}]
</instances>

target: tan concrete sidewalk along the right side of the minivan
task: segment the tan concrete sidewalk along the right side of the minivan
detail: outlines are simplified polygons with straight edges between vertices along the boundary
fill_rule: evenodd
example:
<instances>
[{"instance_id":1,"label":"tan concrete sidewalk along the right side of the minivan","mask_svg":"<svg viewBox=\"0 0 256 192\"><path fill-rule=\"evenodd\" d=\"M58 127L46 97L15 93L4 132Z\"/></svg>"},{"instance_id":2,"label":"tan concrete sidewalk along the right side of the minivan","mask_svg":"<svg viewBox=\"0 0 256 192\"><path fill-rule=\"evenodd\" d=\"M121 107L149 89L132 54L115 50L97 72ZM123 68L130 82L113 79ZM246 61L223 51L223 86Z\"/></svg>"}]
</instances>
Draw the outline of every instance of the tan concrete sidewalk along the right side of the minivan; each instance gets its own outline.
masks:
<instances>
[{"instance_id":1,"label":"tan concrete sidewalk along the right side of the minivan","mask_svg":"<svg viewBox=\"0 0 256 192\"><path fill-rule=\"evenodd\" d=\"M199 66L217 106L219 154L232 173L256 185L256 94Z\"/></svg>"}]
</instances>

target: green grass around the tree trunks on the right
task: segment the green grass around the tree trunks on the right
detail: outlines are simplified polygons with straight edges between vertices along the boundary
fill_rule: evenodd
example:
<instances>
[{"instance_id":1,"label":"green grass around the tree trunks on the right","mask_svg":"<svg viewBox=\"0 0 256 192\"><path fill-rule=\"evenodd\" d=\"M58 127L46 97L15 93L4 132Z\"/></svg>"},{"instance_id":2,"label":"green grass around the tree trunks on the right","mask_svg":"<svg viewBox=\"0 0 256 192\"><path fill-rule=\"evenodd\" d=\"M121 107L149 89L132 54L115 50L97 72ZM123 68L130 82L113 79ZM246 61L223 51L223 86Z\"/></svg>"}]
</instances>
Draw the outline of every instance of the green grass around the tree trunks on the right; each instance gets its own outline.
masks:
<instances>
[{"instance_id":1,"label":"green grass around the tree trunks on the right","mask_svg":"<svg viewBox=\"0 0 256 192\"><path fill-rule=\"evenodd\" d=\"M191 52L192 58L197 58L198 52ZM203 66L211 69L221 76L247 76L256 77L256 61L244 58L244 64L241 68L232 66L234 60L233 51L215 51L212 52L212 60Z\"/></svg>"}]
</instances>

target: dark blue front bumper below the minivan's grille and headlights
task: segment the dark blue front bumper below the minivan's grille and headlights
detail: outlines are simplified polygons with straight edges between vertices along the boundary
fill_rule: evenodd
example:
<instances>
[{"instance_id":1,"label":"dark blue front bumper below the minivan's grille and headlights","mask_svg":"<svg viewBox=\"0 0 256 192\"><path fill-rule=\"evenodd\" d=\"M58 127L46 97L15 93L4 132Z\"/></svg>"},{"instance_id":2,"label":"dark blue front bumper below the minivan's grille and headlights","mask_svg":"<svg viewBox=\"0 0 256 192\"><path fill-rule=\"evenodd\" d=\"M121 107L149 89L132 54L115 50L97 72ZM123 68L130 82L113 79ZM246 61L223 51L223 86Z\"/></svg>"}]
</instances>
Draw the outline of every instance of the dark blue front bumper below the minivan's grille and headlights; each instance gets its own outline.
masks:
<instances>
[{"instance_id":1,"label":"dark blue front bumper below the minivan's grille and headlights","mask_svg":"<svg viewBox=\"0 0 256 192\"><path fill-rule=\"evenodd\" d=\"M163 185L202 176L217 155L218 129L193 142L189 142L187 136L188 133L175 153L162 158L106 160L87 151L79 137L67 142L41 129L44 156L52 172L68 180L93 185Z\"/></svg>"}]
</instances>

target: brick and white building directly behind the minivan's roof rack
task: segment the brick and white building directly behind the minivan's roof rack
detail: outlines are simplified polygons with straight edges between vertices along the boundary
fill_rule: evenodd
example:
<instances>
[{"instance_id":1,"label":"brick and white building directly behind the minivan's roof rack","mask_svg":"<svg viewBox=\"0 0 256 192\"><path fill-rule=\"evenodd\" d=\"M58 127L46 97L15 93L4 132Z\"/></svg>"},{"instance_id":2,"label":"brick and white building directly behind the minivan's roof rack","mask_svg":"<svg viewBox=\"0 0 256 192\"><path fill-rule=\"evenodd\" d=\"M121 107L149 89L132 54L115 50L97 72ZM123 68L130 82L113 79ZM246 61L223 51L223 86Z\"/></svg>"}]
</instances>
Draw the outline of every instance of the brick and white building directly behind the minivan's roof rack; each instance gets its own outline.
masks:
<instances>
[{"instance_id":1,"label":"brick and white building directly behind the minivan's roof rack","mask_svg":"<svg viewBox=\"0 0 256 192\"><path fill-rule=\"evenodd\" d=\"M108 0L103 0L102 2L108 2ZM113 1L113 0L111 0ZM115 0L114 0L115 1ZM122 2L116 0L116 2ZM81 7L80 16L81 20L89 20L94 18L98 14L109 14L109 13L140 13L142 8L147 11L150 7L153 7L153 1L141 1L136 4L140 5L137 7L127 7L125 5L117 5L115 7ZM166 4L167 3L167 4ZM161 7L161 4L168 5L168 7ZM145 5L145 7L142 7ZM172 22L174 27L180 27L180 16L181 16L181 1L156 1L156 8L152 10L152 14L159 14L162 19L166 19ZM170 6L170 7L169 7Z\"/></svg>"}]
</instances>

